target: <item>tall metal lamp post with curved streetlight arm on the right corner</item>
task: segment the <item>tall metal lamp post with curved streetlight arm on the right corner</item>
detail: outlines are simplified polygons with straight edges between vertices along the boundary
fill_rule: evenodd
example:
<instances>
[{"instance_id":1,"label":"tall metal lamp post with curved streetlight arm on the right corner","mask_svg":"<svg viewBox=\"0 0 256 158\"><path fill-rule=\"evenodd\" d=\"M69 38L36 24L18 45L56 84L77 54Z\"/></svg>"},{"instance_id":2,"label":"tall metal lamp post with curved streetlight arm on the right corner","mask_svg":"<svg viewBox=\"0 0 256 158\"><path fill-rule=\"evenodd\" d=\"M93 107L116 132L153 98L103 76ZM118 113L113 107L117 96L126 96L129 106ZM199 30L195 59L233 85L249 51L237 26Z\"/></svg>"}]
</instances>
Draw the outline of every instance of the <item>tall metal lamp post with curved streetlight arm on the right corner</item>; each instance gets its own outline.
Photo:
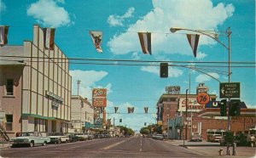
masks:
<instances>
[{"instance_id":1,"label":"tall metal lamp post with curved streetlight arm on the right corner","mask_svg":"<svg viewBox=\"0 0 256 158\"><path fill-rule=\"evenodd\" d=\"M207 37L211 37L213 40L217 41L219 44L221 44L224 48L226 48L228 51L229 51L229 61L228 61L228 65L229 65L229 71L228 71L228 76L229 76L229 82L230 82L230 75L231 75L231 70L230 70L230 58L231 58L231 42L230 42L230 37L231 37L231 33L232 31L230 30L230 27L225 31L225 34L227 35L228 37L228 40L229 40L229 45L226 46L223 42L220 42L218 40L218 33L215 32L215 31L202 31L202 30L192 30L192 29L186 29L186 28L180 28L180 27L171 27L170 28L170 31L172 33L176 32L176 31L194 31L194 32L198 32L202 35L205 35ZM212 36L213 35L213 36ZM227 121L227 124L228 124L228 127L227 127L227 132L230 132L230 98L228 99L228 121ZM227 145L227 153L229 153L229 149L230 149L230 146L229 144Z\"/></svg>"}]
</instances>

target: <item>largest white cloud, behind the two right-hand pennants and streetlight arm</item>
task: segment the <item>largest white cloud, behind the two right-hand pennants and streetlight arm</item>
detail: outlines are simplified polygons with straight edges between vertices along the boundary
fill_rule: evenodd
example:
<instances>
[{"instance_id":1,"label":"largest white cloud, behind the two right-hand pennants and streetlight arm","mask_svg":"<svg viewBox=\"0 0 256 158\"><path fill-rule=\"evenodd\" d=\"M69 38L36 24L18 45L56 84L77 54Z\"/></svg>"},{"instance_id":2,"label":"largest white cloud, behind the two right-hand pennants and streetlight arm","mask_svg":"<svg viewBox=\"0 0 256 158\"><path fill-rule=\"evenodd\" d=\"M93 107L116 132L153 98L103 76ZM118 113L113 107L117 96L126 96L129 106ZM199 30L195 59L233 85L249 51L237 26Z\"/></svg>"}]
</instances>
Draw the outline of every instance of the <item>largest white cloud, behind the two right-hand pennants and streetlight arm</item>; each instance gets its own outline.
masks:
<instances>
[{"instance_id":1,"label":"largest white cloud, behind the two right-hand pennants and streetlight arm","mask_svg":"<svg viewBox=\"0 0 256 158\"><path fill-rule=\"evenodd\" d=\"M152 32L153 54L186 54L193 55L185 35L171 34L170 27L184 27L201 30L217 30L218 25L232 16L233 5L218 3L213 6L210 0L153 0L153 9L127 29L115 35L108 42L113 54L142 52L137 31ZM192 16L193 15L193 16ZM163 32L163 33L156 33ZM166 33L168 36L166 36ZM209 37L200 37L200 45L215 44Z\"/></svg>"}]
</instances>

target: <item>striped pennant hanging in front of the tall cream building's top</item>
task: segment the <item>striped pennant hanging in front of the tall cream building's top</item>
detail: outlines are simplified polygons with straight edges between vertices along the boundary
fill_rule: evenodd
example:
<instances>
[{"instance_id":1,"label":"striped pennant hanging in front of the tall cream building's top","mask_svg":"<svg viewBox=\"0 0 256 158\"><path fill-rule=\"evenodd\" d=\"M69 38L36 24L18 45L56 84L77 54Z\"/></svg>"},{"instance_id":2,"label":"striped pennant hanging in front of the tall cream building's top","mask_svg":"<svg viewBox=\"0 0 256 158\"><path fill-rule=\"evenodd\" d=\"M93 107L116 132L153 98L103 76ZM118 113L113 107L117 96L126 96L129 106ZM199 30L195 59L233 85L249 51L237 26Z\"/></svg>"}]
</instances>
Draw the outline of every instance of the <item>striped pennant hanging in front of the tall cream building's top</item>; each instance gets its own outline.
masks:
<instances>
[{"instance_id":1,"label":"striped pennant hanging in front of the tall cream building's top","mask_svg":"<svg viewBox=\"0 0 256 158\"><path fill-rule=\"evenodd\" d=\"M54 50L55 45L55 29L44 28L44 47L49 50Z\"/></svg>"}]
</instances>

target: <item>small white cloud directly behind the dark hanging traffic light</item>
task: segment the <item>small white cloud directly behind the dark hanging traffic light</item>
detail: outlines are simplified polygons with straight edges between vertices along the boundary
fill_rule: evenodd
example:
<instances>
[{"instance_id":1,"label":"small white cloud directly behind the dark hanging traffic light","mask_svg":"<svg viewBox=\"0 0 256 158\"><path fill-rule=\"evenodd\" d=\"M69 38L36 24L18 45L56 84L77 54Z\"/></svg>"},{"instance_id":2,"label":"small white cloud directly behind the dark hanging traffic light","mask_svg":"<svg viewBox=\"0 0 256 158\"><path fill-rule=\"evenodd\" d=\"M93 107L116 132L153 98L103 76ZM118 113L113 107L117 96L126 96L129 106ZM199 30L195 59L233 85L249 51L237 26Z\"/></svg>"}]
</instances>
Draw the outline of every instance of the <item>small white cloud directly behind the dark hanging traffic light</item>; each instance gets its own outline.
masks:
<instances>
[{"instance_id":1,"label":"small white cloud directly behind the dark hanging traffic light","mask_svg":"<svg viewBox=\"0 0 256 158\"><path fill-rule=\"evenodd\" d=\"M154 75L157 75L157 76L160 75L160 68L157 66L142 66L141 71L153 73ZM177 76L182 76L182 75L183 75L183 71L173 68L173 67L168 68L168 76L169 77L177 77Z\"/></svg>"}]
</instances>

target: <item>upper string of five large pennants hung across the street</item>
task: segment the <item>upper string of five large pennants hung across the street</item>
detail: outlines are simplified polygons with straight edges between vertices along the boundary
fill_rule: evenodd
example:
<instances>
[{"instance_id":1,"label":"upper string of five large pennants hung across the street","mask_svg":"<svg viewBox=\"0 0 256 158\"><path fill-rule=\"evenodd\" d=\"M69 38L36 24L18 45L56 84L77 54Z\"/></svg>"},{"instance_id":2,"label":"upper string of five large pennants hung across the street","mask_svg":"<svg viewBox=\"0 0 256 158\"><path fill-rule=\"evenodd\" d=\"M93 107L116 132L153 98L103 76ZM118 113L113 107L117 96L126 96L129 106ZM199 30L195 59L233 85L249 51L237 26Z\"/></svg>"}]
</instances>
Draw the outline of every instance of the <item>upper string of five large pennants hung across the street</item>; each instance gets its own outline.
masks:
<instances>
[{"instance_id":1,"label":"upper string of five large pennants hung across the street","mask_svg":"<svg viewBox=\"0 0 256 158\"><path fill-rule=\"evenodd\" d=\"M9 26L0 25L0 46L3 47L8 43ZM44 47L54 50L55 28L43 28L44 31ZM89 31L92 42L98 53L102 53L102 31ZM151 32L137 32L143 54L152 55L151 50ZM189 45L192 48L194 57L196 57L197 46L200 35L187 34Z\"/></svg>"}]
</instances>

